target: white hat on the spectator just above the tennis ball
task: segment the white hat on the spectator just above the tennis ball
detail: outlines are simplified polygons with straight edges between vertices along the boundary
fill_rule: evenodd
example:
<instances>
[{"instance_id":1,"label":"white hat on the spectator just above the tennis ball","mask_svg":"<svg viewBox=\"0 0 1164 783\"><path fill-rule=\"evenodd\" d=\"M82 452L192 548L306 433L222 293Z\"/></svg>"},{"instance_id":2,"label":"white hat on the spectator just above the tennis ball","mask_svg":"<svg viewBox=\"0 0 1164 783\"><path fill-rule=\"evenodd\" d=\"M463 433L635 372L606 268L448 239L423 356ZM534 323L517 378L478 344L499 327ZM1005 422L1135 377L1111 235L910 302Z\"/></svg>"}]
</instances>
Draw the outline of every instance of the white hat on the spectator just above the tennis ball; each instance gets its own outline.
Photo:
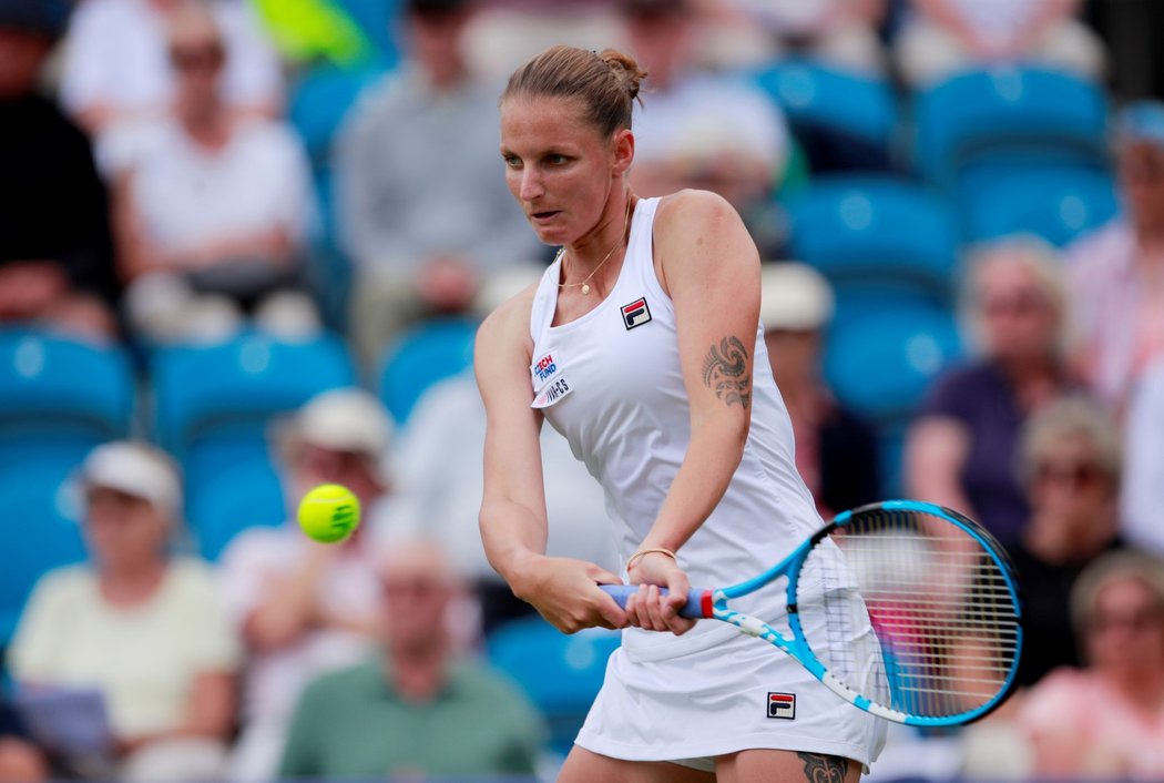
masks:
<instances>
[{"instance_id":1,"label":"white hat on the spectator just above the tennis ball","mask_svg":"<svg viewBox=\"0 0 1164 783\"><path fill-rule=\"evenodd\" d=\"M294 414L286 435L321 449L362 454L383 467L392 421L371 393L354 387L331 389L312 397Z\"/></svg>"}]
</instances>

